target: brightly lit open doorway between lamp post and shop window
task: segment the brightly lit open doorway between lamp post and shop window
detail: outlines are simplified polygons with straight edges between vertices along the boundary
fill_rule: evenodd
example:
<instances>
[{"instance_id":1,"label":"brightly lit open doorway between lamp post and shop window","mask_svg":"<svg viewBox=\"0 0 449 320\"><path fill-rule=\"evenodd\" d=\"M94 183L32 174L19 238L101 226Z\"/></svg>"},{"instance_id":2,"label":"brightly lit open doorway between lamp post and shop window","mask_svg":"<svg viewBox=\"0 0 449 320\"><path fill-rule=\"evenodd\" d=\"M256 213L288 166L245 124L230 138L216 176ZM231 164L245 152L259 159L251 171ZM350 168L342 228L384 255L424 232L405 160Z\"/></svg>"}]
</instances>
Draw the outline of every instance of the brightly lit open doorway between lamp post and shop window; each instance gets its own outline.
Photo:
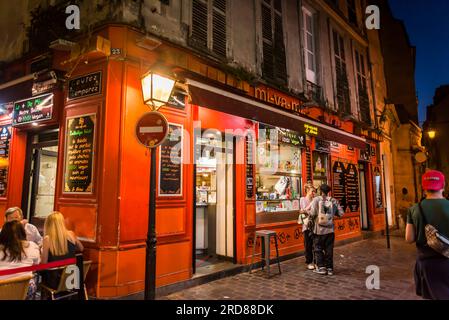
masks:
<instances>
[{"instance_id":1,"label":"brightly lit open doorway between lamp post and shop window","mask_svg":"<svg viewBox=\"0 0 449 320\"><path fill-rule=\"evenodd\" d=\"M194 273L235 263L235 138L204 131L195 139Z\"/></svg>"}]
</instances>

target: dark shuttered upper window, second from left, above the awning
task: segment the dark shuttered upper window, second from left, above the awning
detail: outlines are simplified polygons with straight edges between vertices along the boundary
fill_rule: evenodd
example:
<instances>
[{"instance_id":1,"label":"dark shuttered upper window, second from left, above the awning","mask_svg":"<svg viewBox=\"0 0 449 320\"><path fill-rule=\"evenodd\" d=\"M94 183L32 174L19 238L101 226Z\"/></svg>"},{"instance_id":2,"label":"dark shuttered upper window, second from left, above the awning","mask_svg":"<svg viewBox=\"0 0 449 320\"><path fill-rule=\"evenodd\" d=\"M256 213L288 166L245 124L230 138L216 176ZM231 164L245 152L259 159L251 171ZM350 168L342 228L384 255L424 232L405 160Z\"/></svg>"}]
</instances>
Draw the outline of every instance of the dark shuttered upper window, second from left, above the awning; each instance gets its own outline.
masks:
<instances>
[{"instance_id":1,"label":"dark shuttered upper window, second from left, above the awning","mask_svg":"<svg viewBox=\"0 0 449 320\"><path fill-rule=\"evenodd\" d=\"M262 73L265 79L287 83L281 0L261 0Z\"/></svg>"}]
</instances>

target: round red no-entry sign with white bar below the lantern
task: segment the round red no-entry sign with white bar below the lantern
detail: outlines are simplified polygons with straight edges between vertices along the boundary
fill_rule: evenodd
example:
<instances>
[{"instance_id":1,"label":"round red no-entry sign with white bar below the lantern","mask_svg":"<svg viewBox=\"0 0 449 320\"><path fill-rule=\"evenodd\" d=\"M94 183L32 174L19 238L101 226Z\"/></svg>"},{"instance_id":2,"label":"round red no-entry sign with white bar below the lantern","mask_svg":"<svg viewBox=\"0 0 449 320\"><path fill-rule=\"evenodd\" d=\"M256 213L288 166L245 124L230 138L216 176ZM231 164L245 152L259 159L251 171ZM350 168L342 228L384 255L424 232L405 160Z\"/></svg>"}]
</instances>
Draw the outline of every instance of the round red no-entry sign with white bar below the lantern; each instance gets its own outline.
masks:
<instances>
[{"instance_id":1,"label":"round red no-entry sign with white bar below the lantern","mask_svg":"<svg viewBox=\"0 0 449 320\"><path fill-rule=\"evenodd\" d=\"M167 134L168 122L160 112L145 113L137 122L137 139L147 148L156 148L164 142Z\"/></svg>"}]
</instances>

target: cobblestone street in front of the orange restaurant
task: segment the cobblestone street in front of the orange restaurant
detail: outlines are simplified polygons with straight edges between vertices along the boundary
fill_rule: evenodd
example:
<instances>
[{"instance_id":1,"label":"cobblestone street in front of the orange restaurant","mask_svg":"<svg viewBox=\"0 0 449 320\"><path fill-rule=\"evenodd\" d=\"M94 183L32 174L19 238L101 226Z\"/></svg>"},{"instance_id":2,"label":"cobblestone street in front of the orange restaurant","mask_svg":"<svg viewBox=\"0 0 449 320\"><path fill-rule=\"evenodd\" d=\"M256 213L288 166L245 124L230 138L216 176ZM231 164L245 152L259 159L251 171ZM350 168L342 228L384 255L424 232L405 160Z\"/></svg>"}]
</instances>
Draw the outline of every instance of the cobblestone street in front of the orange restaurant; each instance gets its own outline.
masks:
<instances>
[{"instance_id":1,"label":"cobblestone street in front of the orange restaurant","mask_svg":"<svg viewBox=\"0 0 449 320\"><path fill-rule=\"evenodd\" d=\"M306 270L304 257L281 264L282 275L267 279L257 270L186 289L162 299L186 300L414 300L413 266L415 247L401 237L368 239L334 250L335 274L323 276ZM380 290L368 290L366 267L380 268ZM272 265L272 272L277 271Z\"/></svg>"}]
</instances>

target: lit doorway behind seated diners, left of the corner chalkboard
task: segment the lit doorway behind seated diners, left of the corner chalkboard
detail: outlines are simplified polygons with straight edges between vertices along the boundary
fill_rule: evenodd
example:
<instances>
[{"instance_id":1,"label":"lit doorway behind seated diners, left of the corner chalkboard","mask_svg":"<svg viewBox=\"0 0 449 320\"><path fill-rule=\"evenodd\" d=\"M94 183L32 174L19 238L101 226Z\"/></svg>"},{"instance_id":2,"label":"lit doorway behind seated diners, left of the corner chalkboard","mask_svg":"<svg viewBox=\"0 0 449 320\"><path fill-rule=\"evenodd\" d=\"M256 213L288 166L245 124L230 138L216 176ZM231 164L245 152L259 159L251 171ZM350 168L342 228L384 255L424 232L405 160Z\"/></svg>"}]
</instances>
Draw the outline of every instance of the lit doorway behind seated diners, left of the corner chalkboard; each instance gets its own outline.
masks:
<instances>
[{"instance_id":1,"label":"lit doorway behind seated diners, left of the corner chalkboard","mask_svg":"<svg viewBox=\"0 0 449 320\"><path fill-rule=\"evenodd\" d=\"M29 133L22 193L24 216L42 233L54 210L59 129Z\"/></svg>"}]
</instances>

